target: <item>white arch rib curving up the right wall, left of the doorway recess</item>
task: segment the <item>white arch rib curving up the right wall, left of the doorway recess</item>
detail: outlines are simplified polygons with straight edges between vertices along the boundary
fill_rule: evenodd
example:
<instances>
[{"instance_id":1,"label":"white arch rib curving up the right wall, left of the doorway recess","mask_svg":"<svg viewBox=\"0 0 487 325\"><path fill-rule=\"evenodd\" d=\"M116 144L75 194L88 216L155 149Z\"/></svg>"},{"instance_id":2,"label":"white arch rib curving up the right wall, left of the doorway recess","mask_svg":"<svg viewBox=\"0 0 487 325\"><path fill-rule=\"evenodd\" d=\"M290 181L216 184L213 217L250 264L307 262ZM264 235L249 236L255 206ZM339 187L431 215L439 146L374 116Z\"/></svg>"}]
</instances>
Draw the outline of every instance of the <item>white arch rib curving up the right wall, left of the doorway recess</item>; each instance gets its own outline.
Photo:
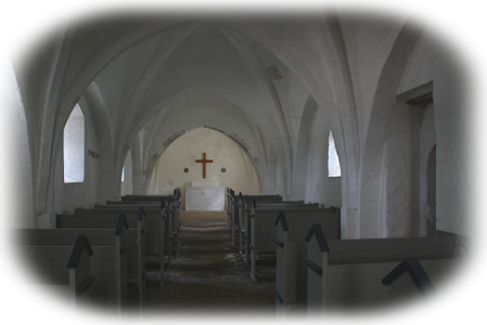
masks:
<instances>
[{"instance_id":1,"label":"white arch rib curving up the right wall, left of the doorway recess","mask_svg":"<svg viewBox=\"0 0 487 325\"><path fill-rule=\"evenodd\" d=\"M405 23L382 69L372 112L367 128L367 138L361 152L360 203L356 220L356 237L379 237L382 225L381 172L386 143L388 120L396 102L401 77L414 46L444 0L420 0ZM361 222L363 221L363 222Z\"/></svg>"}]
</instances>

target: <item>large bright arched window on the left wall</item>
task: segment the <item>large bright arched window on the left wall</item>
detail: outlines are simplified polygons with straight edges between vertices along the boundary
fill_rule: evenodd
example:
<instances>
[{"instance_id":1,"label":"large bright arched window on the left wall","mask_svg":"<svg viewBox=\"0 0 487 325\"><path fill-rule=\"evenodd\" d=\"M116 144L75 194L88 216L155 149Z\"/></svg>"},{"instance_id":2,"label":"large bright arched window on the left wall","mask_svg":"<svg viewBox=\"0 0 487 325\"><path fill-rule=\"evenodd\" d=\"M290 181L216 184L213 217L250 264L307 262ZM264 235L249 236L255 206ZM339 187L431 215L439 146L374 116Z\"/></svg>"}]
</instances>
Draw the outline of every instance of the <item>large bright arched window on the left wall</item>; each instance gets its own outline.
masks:
<instances>
[{"instance_id":1,"label":"large bright arched window on the left wall","mask_svg":"<svg viewBox=\"0 0 487 325\"><path fill-rule=\"evenodd\" d=\"M85 116L76 104L64 126L64 183L85 181Z\"/></svg>"}]
</instances>

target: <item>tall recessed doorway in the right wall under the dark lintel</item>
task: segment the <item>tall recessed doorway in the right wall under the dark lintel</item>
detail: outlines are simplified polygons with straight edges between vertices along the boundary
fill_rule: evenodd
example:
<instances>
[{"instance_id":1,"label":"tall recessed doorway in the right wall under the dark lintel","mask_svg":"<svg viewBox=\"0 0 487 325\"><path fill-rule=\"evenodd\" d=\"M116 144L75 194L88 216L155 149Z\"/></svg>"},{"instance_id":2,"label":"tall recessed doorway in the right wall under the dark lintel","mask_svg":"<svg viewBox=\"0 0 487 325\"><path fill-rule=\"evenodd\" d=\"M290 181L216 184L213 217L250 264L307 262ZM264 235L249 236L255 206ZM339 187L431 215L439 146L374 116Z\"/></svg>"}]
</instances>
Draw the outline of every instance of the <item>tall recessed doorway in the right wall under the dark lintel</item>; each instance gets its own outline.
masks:
<instances>
[{"instance_id":1,"label":"tall recessed doorway in the right wall under the dark lintel","mask_svg":"<svg viewBox=\"0 0 487 325\"><path fill-rule=\"evenodd\" d=\"M432 185L428 159L436 141L434 118L433 104L397 102L393 107L381 174L383 237L436 234L434 216L426 206ZM430 199L434 200L431 193Z\"/></svg>"}]
</instances>

